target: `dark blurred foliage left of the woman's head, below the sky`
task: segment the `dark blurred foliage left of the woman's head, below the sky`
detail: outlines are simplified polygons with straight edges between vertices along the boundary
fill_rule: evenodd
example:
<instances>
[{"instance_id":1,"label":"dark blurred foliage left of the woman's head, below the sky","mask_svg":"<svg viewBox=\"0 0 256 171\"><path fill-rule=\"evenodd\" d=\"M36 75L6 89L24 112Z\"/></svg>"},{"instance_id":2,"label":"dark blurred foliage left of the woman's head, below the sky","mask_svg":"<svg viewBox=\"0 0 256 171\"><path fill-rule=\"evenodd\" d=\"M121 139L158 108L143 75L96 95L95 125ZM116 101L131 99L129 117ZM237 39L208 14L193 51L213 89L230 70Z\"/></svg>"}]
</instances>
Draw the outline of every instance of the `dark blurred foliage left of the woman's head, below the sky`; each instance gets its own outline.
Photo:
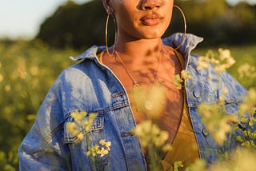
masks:
<instances>
[{"instance_id":1,"label":"dark blurred foliage left of the woman's head, below the sky","mask_svg":"<svg viewBox=\"0 0 256 171\"><path fill-rule=\"evenodd\" d=\"M81 6L68 1L42 23L37 38L55 47L85 49L94 44L104 45L105 21L106 12L102 0ZM110 33L110 38L113 36L114 33Z\"/></svg>"}]
</instances>

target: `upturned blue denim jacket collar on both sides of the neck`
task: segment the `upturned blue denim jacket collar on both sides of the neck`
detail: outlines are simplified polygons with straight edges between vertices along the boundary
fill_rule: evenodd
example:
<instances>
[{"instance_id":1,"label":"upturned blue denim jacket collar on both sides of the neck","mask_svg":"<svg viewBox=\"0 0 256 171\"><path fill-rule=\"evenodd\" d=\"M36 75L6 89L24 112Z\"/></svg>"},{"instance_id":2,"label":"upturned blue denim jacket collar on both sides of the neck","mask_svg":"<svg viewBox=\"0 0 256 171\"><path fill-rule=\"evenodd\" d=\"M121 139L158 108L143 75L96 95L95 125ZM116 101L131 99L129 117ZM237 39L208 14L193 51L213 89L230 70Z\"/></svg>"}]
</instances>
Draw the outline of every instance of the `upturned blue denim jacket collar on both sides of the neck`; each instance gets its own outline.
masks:
<instances>
[{"instance_id":1,"label":"upturned blue denim jacket collar on both sides of the neck","mask_svg":"<svg viewBox=\"0 0 256 171\"><path fill-rule=\"evenodd\" d=\"M187 58L189 57L189 54L192 50L198 45L199 42L202 42L203 38L199 38L198 36L195 36L194 34L172 34L170 37L163 38L162 42L166 46L171 46L175 49L175 47L179 46L183 38L185 36L184 43L182 46L178 49L178 52L182 54L182 56L185 59L185 62L187 61ZM86 50L84 53L78 55L77 57L70 57L73 61L79 61L82 59L95 59L97 57L97 54L102 52L102 50L105 50L106 46L91 46L89 50Z\"/></svg>"}]
</instances>

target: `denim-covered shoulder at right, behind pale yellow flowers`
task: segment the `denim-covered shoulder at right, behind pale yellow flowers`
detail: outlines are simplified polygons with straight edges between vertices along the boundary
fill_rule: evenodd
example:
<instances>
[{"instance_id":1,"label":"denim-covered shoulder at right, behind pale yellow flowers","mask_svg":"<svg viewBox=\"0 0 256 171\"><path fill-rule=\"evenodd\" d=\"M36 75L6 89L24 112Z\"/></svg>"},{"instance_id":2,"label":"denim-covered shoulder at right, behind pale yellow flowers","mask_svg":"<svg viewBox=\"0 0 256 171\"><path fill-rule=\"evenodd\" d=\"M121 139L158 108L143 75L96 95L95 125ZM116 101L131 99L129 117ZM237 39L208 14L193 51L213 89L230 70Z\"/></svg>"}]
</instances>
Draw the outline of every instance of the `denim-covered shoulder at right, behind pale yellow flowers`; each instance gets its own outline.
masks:
<instances>
[{"instance_id":1,"label":"denim-covered shoulder at right, behind pale yellow flowers","mask_svg":"<svg viewBox=\"0 0 256 171\"><path fill-rule=\"evenodd\" d=\"M207 100L218 101L219 97L224 97L226 103L240 103L246 95L247 90L228 72L217 72L214 65L206 62L199 64L198 55L190 55L187 71L191 74L191 79L187 80L189 87L194 87L194 92L201 94ZM204 68L205 67L205 68Z\"/></svg>"}]
</instances>

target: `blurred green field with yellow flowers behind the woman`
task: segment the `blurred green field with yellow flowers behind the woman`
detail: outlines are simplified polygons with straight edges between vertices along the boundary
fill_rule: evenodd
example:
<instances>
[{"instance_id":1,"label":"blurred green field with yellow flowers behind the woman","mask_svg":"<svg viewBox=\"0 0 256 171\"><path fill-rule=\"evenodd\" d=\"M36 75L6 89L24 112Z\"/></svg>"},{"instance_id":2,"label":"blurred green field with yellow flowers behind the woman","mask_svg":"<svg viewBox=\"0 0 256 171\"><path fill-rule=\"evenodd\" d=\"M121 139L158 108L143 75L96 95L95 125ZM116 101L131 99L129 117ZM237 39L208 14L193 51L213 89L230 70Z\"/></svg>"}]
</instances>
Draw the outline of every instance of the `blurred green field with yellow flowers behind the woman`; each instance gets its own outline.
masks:
<instances>
[{"instance_id":1,"label":"blurred green field with yellow flowers behind the woman","mask_svg":"<svg viewBox=\"0 0 256 171\"><path fill-rule=\"evenodd\" d=\"M229 47L236 63L229 69L242 85L255 87L256 46ZM205 54L206 49L194 53ZM76 50L57 50L42 42L0 43L0 169L18 170L18 145L34 122L50 85L74 64ZM239 66L242 66L238 69ZM250 67L254 66L254 67Z\"/></svg>"}]
</instances>

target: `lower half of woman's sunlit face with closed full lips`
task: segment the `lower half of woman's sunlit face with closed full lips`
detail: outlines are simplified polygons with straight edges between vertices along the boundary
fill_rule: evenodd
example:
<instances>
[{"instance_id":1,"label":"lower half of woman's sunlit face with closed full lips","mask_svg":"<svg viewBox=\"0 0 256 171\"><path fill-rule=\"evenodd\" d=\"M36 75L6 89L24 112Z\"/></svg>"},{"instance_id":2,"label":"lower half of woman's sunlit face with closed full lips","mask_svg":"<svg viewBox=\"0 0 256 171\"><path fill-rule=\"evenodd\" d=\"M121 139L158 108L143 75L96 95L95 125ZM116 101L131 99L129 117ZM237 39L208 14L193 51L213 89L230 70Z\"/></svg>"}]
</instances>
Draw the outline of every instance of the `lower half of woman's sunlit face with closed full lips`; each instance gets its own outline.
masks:
<instances>
[{"instance_id":1,"label":"lower half of woman's sunlit face with closed full lips","mask_svg":"<svg viewBox=\"0 0 256 171\"><path fill-rule=\"evenodd\" d=\"M161 38L170 24L174 0L110 0L122 38Z\"/></svg>"}]
</instances>

